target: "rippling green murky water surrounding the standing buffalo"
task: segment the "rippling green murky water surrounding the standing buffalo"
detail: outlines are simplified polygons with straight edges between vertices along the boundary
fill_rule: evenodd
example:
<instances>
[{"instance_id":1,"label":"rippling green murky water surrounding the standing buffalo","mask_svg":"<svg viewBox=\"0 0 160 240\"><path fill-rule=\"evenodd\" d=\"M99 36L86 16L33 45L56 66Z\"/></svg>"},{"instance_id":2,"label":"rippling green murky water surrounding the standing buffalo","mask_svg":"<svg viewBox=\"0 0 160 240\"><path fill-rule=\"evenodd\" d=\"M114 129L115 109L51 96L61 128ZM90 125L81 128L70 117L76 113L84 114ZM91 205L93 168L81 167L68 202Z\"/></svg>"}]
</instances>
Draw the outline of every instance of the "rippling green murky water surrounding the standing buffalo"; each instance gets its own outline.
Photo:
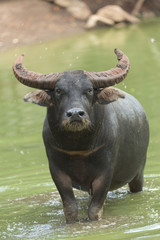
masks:
<instances>
[{"instance_id":1,"label":"rippling green murky water surrounding the standing buffalo","mask_svg":"<svg viewBox=\"0 0 160 240\"><path fill-rule=\"evenodd\" d=\"M67 226L51 180L41 131L46 109L22 101L29 88L13 77L11 65L25 54L37 72L69 69L100 71L116 65L113 49L123 50L131 69L119 88L144 106L150 146L144 191L128 187L108 194L102 220ZM160 239L160 21L102 29L0 53L0 239ZM89 197L75 191L80 218Z\"/></svg>"}]
</instances>

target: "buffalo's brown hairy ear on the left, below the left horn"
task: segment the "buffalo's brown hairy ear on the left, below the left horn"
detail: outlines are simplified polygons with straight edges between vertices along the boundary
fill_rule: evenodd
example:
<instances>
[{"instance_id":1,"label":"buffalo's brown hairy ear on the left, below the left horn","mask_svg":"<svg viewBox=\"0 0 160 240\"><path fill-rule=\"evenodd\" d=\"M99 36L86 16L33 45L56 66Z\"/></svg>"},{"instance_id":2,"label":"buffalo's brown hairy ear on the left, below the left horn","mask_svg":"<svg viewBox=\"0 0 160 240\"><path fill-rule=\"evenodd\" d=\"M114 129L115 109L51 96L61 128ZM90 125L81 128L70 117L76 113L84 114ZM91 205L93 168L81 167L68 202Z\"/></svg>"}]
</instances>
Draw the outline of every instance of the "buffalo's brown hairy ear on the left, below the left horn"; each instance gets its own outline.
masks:
<instances>
[{"instance_id":1,"label":"buffalo's brown hairy ear on the left, below the left horn","mask_svg":"<svg viewBox=\"0 0 160 240\"><path fill-rule=\"evenodd\" d=\"M52 97L47 91L37 90L24 96L25 102L31 102L40 106L49 107L53 105Z\"/></svg>"}]
</instances>

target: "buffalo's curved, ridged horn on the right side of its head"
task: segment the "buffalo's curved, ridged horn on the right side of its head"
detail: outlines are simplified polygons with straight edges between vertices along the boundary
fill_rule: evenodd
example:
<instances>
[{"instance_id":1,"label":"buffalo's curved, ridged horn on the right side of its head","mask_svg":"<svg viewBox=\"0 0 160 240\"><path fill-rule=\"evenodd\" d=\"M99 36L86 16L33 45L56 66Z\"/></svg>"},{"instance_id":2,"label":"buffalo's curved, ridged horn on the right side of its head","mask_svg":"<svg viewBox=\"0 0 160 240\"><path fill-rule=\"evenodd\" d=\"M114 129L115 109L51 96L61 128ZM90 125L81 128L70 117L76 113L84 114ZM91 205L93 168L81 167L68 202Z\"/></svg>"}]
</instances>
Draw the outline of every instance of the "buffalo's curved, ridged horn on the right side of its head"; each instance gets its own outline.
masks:
<instances>
[{"instance_id":1,"label":"buffalo's curved, ridged horn on the right side of its head","mask_svg":"<svg viewBox=\"0 0 160 240\"><path fill-rule=\"evenodd\" d=\"M128 57L118 49L114 49L118 64L105 72L85 72L90 78L94 88L105 88L120 83L129 71Z\"/></svg>"}]
</instances>

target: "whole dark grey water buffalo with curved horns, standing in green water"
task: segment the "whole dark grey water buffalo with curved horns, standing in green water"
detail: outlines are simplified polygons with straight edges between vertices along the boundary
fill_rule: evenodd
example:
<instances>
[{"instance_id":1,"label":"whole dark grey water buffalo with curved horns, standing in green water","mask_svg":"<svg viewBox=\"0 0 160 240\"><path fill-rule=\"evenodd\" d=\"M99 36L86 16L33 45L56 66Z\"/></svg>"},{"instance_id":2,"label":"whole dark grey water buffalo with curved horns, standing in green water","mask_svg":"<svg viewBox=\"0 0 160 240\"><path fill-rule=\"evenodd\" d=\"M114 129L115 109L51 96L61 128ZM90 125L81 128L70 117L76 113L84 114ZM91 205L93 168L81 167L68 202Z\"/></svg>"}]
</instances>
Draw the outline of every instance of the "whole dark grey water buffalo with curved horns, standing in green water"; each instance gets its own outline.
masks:
<instances>
[{"instance_id":1,"label":"whole dark grey water buffalo with curved horns, standing in green water","mask_svg":"<svg viewBox=\"0 0 160 240\"><path fill-rule=\"evenodd\" d=\"M67 223L78 217L73 187L91 194L90 220L101 217L108 191L125 184L142 191L148 120L133 96L111 87L129 71L127 56L115 53L118 65L104 72L34 73L23 66L24 55L13 65L21 83L40 89L24 100L47 107L43 139Z\"/></svg>"}]
</instances>

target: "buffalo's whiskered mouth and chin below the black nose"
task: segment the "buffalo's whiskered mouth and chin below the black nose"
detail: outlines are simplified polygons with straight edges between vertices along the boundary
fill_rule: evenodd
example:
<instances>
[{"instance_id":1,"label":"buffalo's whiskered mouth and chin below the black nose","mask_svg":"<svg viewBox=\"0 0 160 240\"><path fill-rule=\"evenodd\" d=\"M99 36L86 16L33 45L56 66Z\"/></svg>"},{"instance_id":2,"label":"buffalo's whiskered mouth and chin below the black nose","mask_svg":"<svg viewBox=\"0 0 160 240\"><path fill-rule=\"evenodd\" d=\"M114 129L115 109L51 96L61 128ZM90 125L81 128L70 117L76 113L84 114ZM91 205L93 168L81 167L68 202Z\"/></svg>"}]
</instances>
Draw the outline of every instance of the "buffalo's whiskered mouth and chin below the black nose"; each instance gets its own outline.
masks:
<instances>
[{"instance_id":1,"label":"buffalo's whiskered mouth and chin below the black nose","mask_svg":"<svg viewBox=\"0 0 160 240\"><path fill-rule=\"evenodd\" d=\"M65 119L62 122L62 126L66 131L80 132L85 129L89 130L91 128L91 123L88 119Z\"/></svg>"}]
</instances>

